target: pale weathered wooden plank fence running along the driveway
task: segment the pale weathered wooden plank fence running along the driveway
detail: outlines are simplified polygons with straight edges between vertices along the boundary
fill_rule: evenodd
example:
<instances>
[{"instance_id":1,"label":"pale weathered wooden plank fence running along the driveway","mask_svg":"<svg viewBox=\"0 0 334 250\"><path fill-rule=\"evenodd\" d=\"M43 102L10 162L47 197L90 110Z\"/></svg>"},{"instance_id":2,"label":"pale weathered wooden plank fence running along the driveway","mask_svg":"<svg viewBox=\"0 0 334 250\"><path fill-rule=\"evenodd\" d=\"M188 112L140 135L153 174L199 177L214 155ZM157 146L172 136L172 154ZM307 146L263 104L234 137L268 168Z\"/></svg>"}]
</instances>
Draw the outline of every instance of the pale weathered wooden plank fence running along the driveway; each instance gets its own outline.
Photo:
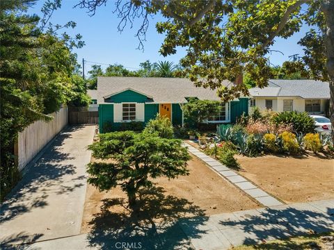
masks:
<instances>
[{"instance_id":1,"label":"pale weathered wooden plank fence running along the driveway","mask_svg":"<svg viewBox=\"0 0 334 250\"><path fill-rule=\"evenodd\" d=\"M36 121L19 133L15 145L17 166L19 171L42 150L68 123L68 109L61 108L51 114L54 117L50 122Z\"/></svg>"}]
</instances>

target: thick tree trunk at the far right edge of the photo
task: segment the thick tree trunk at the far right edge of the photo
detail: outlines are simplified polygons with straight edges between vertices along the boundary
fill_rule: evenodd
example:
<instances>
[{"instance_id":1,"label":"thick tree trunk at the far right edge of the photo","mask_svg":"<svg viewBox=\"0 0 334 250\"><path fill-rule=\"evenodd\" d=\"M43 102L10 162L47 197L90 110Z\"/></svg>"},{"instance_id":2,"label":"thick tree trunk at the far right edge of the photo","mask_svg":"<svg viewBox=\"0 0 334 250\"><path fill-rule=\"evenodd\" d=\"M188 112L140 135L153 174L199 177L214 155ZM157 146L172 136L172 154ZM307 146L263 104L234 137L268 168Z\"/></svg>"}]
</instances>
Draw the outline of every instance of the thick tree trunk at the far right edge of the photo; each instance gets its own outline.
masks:
<instances>
[{"instance_id":1,"label":"thick tree trunk at the far right edge of the photo","mask_svg":"<svg viewBox=\"0 0 334 250\"><path fill-rule=\"evenodd\" d=\"M332 129L334 129L334 1L324 0L321 4L321 9L326 18L326 55L327 55L327 70L329 76L329 90L331 99L329 102L329 115L331 119ZM332 133L334 142L334 133Z\"/></svg>"}]
</instances>

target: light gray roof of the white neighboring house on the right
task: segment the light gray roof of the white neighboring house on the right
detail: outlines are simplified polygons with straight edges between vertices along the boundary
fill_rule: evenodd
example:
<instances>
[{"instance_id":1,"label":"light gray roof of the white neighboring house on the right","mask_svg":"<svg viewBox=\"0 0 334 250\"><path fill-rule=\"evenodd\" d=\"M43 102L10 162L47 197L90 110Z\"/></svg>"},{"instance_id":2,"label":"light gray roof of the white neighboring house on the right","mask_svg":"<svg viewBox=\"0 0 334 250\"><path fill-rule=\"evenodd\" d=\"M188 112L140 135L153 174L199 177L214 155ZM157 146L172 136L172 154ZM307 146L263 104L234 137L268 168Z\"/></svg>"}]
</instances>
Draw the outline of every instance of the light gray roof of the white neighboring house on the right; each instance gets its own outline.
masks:
<instances>
[{"instance_id":1,"label":"light gray roof of the white neighboring house on the right","mask_svg":"<svg viewBox=\"0 0 334 250\"><path fill-rule=\"evenodd\" d=\"M304 99L329 99L329 84L315 80L269 80L266 88L251 88L253 97L301 97Z\"/></svg>"}]
</instances>

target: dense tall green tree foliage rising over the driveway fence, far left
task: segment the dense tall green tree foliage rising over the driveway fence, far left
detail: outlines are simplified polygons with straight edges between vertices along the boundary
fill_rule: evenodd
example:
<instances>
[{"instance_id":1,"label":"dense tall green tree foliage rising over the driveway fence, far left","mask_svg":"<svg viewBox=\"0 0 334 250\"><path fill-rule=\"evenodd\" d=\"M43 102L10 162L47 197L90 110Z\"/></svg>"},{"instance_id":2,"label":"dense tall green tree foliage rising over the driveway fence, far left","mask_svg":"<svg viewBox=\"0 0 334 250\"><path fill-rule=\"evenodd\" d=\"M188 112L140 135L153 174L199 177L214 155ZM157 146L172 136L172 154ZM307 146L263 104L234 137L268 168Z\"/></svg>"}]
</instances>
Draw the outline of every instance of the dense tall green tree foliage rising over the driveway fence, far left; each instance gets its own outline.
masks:
<instances>
[{"instance_id":1,"label":"dense tall green tree foliage rising over the driveway fence, far left","mask_svg":"<svg viewBox=\"0 0 334 250\"><path fill-rule=\"evenodd\" d=\"M66 40L42 32L38 16L25 14L33 3L0 3L1 199L19 178L13 156L18 133L38 119L52 119L49 113L75 92L76 56Z\"/></svg>"}]
</instances>

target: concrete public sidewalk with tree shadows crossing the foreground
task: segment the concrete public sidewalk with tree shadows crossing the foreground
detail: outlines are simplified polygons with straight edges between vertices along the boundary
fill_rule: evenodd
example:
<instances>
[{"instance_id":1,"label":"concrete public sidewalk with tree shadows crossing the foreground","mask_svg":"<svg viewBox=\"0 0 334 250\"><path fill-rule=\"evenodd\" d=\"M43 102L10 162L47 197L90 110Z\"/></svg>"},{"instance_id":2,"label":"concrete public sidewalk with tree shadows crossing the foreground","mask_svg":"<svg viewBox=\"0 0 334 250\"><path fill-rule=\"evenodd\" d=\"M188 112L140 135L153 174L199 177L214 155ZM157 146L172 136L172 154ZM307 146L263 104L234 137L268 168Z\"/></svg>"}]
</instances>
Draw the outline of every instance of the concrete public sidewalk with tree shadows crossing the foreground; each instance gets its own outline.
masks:
<instances>
[{"instance_id":1,"label":"concrete public sidewalk with tree shadows crossing the foreground","mask_svg":"<svg viewBox=\"0 0 334 250\"><path fill-rule=\"evenodd\" d=\"M47 240L26 249L230 249L240 244L333 231L334 200L184 217L176 222L105 228ZM122 244L128 248L121 248ZM273 247L274 249L274 247Z\"/></svg>"}]
</instances>

